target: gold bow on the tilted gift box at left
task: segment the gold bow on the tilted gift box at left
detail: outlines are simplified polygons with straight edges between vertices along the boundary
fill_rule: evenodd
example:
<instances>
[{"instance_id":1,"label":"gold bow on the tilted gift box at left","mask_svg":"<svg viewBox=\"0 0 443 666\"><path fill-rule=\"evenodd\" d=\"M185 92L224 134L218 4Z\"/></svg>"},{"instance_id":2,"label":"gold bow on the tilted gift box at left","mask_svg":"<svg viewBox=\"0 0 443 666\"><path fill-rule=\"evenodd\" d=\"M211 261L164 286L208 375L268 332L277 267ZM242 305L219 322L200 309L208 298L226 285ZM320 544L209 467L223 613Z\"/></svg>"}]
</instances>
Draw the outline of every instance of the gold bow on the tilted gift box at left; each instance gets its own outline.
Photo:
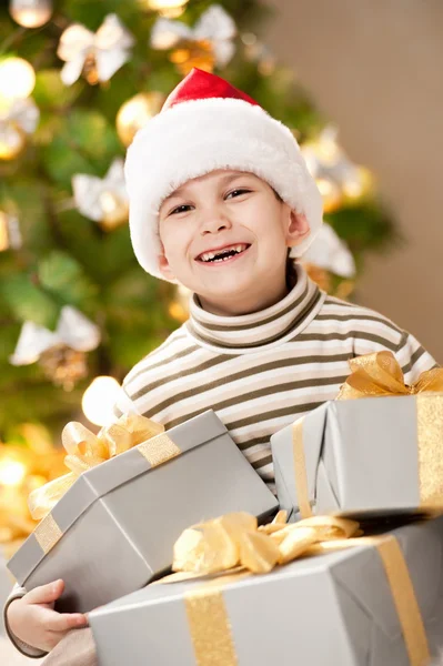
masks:
<instances>
[{"instance_id":1,"label":"gold bow on the tilted gift box at left","mask_svg":"<svg viewBox=\"0 0 443 666\"><path fill-rule=\"evenodd\" d=\"M71 472L50 481L29 495L28 504L32 517L40 521L47 516L82 472L162 432L163 425L139 414L123 414L115 423L102 427L98 435L81 423L71 421L61 434L62 444L68 453L64 464Z\"/></svg>"}]
</instances>

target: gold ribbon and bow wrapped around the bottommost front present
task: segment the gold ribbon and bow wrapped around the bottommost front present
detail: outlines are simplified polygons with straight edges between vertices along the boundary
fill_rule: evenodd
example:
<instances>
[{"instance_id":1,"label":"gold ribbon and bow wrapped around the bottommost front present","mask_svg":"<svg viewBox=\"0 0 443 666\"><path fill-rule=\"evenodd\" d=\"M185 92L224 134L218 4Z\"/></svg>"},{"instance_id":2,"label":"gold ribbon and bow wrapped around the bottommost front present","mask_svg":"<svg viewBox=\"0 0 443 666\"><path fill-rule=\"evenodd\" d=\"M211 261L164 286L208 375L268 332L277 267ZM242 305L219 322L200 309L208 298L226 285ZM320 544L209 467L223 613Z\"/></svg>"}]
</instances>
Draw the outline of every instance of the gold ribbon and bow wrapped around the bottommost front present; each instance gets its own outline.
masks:
<instances>
[{"instance_id":1,"label":"gold ribbon and bow wrapped around the bottommost front present","mask_svg":"<svg viewBox=\"0 0 443 666\"><path fill-rule=\"evenodd\" d=\"M286 525L285 512L279 512L273 523L262 527L258 527L256 519L249 514L228 514L185 529L174 546L173 568L181 573L167 576L160 583L224 573L184 595L198 666L238 666L222 593L225 585L251 574L268 573L275 565L292 562L301 555L315 554L315 548L329 551L362 544L375 546L380 554L411 666L426 666L430 660L427 638L396 539L392 535L352 538L359 533L359 524L354 521L332 516L316 516ZM229 571L230 567L240 568Z\"/></svg>"}]
</instances>

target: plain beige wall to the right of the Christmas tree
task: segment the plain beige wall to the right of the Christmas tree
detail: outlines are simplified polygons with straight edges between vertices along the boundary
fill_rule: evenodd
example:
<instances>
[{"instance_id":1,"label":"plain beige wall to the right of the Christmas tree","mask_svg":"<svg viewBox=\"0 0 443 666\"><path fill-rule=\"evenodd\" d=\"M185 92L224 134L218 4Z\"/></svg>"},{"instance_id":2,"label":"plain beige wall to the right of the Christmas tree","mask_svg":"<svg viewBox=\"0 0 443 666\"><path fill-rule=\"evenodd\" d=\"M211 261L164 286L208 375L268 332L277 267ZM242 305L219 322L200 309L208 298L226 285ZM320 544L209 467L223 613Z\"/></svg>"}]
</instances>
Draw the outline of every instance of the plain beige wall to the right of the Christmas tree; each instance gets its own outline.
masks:
<instances>
[{"instance_id":1,"label":"plain beige wall to the right of the Christmas tree","mask_svg":"<svg viewBox=\"0 0 443 666\"><path fill-rule=\"evenodd\" d=\"M443 364L443 1L268 0L264 41L372 169L405 244L373 255L356 300Z\"/></svg>"}]
</instances>

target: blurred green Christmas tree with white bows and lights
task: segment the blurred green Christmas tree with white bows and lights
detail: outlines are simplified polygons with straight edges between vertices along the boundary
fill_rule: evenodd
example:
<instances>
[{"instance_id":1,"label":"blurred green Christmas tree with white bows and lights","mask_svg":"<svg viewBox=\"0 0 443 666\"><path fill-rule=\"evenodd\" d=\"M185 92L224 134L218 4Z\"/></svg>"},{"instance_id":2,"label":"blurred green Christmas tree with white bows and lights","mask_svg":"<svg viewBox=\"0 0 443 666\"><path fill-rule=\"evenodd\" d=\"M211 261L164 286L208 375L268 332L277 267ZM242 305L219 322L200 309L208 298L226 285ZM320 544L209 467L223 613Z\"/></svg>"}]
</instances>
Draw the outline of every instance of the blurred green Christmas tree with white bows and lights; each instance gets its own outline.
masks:
<instances>
[{"instance_id":1,"label":"blurred green Christmas tree with white bows and lights","mask_svg":"<svg viewBox=\"0 0 443 666\"><path fill-rule=\"evenodd\" d=\"M0 11L0 441L23 423L57 438L94 377L121 382L187 317L184 294L133 256L122 161L192 67L293 128L324 198L329 225L306 258L323 287L350 295L364 254L392 240L370 174L266 49L272 17L255 0Z\"/></svg>"}]
</instances>

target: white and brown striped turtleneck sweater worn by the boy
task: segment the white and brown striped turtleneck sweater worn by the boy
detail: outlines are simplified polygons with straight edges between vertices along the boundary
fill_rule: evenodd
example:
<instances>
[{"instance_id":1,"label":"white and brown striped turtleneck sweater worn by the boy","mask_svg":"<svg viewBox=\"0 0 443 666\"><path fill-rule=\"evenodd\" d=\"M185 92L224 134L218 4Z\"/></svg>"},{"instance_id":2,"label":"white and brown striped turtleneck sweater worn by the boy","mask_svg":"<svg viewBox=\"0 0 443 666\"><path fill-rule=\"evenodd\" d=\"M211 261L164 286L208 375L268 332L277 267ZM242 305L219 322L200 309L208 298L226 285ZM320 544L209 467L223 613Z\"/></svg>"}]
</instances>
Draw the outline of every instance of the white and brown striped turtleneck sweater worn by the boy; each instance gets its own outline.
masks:
<instances>
[{"instance_id":1,"label":"white and brown striped turtleneck sweater worn by the boy","mask_svg":"<svg viewBox=\"0 0 443 666\"><path fill-rule=\"evenodd\" d=\"M125 377L115 414L135 405L170 428L213 408L274 490L271 435L333 400L350 359L391 350L406 383L436 365L389 319L326 295L295 270L292 291L261 312L220 316L194 295L188 322Z\"/></svg>"}]
</instances>

